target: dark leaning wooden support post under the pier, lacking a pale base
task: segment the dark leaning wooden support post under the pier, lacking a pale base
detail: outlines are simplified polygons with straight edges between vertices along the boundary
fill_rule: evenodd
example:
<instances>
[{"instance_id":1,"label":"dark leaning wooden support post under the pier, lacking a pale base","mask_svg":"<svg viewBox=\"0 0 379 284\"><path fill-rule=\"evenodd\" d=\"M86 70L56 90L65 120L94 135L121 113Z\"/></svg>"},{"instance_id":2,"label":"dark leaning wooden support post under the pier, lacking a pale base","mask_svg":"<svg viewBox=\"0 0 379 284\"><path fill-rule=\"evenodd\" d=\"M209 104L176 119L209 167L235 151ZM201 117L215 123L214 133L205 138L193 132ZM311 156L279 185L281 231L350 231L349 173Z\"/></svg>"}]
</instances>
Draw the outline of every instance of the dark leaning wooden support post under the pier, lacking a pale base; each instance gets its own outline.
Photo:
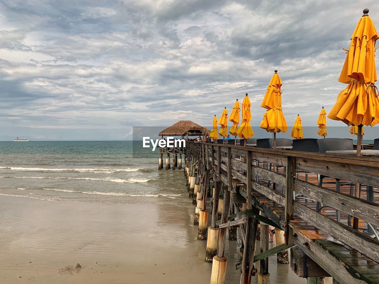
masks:
<instances>
[{"instance_id":1,"label":"dark leaning wooden support post under the pier, lacking a pale base","mask_svg":"<svg viewBox=\"0 0 379 284\"><path fill-rule=\"evenodd\" d=\"M252 208L254 214L258 215L259 210ZM257 236L258 220L249 218L246 224L246 243L243 250L242 268L240 284L250 284L254 268L255 239Z\"/></svg>"}]
</instances>

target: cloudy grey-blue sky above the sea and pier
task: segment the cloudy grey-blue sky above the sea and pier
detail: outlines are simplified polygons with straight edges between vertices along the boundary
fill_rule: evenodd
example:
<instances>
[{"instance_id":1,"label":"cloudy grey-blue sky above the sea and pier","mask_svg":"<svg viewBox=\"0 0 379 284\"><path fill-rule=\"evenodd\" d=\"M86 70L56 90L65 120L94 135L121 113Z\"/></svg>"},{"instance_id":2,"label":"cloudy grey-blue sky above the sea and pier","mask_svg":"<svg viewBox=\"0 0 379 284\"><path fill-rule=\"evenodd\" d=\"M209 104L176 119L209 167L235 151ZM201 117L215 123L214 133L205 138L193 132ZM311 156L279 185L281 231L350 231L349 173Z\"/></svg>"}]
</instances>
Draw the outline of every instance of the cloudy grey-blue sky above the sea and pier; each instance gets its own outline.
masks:
<instances>
[{"instance_id":1,"label":"cloudy grey-blue sky above the sea and pier","mask_svg":"<svg viewBox=\"0 0 379 284\"><path fill-rule=\"evenodd\" d=\"M379 29L377 0L1 0L0 140L132 140L133 126L178 120L211 128L245 93L254 130L274 69L290 128L297 114L314 126L345 89L342 48L364 8Z\"/></svg>"}]
</instances>

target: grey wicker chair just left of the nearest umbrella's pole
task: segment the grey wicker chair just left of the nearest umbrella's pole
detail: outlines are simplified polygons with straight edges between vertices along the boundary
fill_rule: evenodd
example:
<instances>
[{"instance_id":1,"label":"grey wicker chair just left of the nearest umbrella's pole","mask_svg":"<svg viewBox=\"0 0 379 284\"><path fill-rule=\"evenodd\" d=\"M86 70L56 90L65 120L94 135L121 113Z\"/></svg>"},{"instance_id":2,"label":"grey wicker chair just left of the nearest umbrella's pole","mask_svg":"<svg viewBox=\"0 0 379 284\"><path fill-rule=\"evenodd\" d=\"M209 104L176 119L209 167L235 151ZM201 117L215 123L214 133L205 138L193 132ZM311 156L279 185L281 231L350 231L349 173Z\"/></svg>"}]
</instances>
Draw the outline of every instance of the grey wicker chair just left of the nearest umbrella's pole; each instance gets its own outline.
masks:
<instances>
[{"instance_id":1,"label":"grey wicker chair just left of the nearest umbrella's pole","mask_svg":"<svg viewBox=\"0 0 379 284\"><path fill-rule=\"evenodd\" d=\"M326 153L326 151L343 151L343 150L353 150L353 140L352 139L344 139L344 138L324 138L318 139L317 144L319 147L320 153ZM334 178L335 182L324 182L324 178L329 178L324 175L320 175L318 185L323 186L323 183L335 184L335 190L337 192L340 191L340 179ZM350 186L350 194L352 195L354 190L354 184L351 182L342 184ZM316 210L319 211L321 209L321 203L317 202ZM340 211L336 210L337 221L340 222Z\"/></svg>"}]
</instances>

